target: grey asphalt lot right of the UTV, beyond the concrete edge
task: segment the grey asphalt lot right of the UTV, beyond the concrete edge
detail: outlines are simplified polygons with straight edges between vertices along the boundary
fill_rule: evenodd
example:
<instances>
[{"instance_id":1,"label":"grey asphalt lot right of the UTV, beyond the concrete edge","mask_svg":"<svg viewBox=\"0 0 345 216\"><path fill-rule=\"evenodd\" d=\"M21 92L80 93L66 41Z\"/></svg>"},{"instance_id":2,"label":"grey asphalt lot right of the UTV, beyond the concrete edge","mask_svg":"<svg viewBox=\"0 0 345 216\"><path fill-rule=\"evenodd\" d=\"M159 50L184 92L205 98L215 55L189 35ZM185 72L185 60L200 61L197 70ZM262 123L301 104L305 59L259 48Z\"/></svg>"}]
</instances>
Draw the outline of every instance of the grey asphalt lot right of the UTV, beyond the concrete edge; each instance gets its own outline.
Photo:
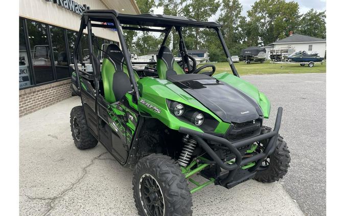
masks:
<instances>
[{"instance_id":1,"label":"grey asphalt lot right of the UTV, beyond the concrete edge","mask_svg":"<svg viewBox=\"0 0 345 216\"><path fill-rule=\"evenodd\" d=\"M287 142L291 167L280 183L307 215L326 215L326 74L243 76L271 101L274 125L284 108L280 134Z\"/></svg>"}]
</instances>

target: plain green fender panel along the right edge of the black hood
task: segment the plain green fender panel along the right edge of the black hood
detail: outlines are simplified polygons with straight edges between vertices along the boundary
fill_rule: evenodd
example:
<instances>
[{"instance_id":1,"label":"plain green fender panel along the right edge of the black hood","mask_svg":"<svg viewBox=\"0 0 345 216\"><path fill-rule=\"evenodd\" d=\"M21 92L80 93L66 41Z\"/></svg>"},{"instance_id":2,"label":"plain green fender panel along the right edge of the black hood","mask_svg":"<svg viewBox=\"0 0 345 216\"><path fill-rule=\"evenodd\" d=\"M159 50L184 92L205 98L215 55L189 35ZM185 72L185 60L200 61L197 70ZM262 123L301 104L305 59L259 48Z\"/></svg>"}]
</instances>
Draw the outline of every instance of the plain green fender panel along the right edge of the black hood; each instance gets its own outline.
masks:
<instances>
[{"instance_id":1,"label":"plain green fender panel along the right edge of the black hood","mask_svg":"<svg viewBox=\"0 0 345 216\"><path fill-rule=\"evenodd\" d=\"M234 76L226 72L217 74L213 77L229 85L232 85L236 89L244 92L246 95L255 99L260 105L262 112L264 114L264 117L265 118L269 117L269 112L271 110L270 102L267 99L267 97L263 93L259 92L258 89L254 85L250 84L249 82L237 76Z\"/></svg>"}]
</instances>

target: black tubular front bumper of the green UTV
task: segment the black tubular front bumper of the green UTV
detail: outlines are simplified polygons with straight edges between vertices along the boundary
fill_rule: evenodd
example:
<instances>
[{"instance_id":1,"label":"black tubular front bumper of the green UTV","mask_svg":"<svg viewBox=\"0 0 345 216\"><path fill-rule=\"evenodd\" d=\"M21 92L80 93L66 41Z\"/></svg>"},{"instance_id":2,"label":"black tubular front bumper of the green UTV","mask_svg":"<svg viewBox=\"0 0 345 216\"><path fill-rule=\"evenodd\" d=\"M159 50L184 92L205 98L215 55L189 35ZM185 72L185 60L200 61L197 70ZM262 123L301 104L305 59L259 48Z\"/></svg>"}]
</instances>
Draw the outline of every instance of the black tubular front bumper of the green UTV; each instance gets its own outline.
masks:
<instances>
[{"instance_id":1,"label":"black tubular front bumper of the green UTV","mask_svg":"<svg viewBox=\"0 0 345 216\"><path fill-rule=\"evenodd\" d=\"M227 176L219 177L219 183L222 186L233 187L237 185L240 182L243 182L245 180L248 180L250 178L253 178L255 176L257 168L261 165L262 161L269 155L271 155L274 152L275 147L277 147L277 138L278 138L278 132L280 129L280 124L282 120L282 113L283 108L278 108L277 117L275 118L275 124L273 131L262 134L256 137L251 137L245 140L241 140L238 142L230 142L225 138L217 137L215 135L206 134L202 132L197 132L189 128L180 127L179 132L183 134L189 134L195 139L198 144L205 150L206 153L210 155L210 157L214 160L216 164L218 164L222 169L228 170ZM257 155L248 157L248 158L242 158L241 153L239 152L238 148L244 147L248 144L252 144L257 141L268 139L268 143L265 146L265 149L262 153L259 153ZM235 162L233 164L228 164L225 161L221 160L218 155L214 152L214 150L205 142L205 140L213 141L220 143L224 146L226 146L235 156ZM241 179L238 179L237 183L234 181L234 176L236 175L237 170L246 164L249 164L251 162L255 162L255 166L251 167L248 171L247 175L243 175ZM224 175L223 175L224 176Z\"/></svg>"}]
</instances>

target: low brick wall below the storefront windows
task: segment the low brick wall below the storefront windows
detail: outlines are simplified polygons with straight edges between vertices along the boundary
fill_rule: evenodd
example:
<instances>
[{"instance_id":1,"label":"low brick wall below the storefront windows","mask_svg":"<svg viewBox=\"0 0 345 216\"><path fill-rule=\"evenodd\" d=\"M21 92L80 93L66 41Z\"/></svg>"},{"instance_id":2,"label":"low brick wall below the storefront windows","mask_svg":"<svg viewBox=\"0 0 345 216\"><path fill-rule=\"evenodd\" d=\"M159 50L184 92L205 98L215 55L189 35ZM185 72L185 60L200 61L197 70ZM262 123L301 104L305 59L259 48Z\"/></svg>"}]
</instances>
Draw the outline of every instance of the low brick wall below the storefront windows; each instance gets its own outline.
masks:
<instances>
[{"instance_id":1,"label":"low brick wall below the storefront windows","mask_svg":"<svg viewBox=\"0 0 345 216\"><path fill-rule=\"evenodd\" d=\"M72 95L71 79L19 90L19 117L53 105Z\"/></svg>"}]
</instances>

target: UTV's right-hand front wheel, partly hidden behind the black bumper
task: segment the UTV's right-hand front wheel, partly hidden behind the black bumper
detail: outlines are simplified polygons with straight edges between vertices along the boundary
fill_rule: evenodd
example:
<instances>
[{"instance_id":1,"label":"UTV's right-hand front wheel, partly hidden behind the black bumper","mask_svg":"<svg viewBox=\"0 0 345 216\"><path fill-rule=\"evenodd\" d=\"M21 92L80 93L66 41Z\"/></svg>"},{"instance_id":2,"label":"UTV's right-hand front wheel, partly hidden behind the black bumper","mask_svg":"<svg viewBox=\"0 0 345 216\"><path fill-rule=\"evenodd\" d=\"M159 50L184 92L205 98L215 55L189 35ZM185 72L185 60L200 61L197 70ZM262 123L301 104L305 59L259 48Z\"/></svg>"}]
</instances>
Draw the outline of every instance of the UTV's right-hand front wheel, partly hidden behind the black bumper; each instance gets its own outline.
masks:
<instances>
[{"instance_id":1,"label":"UTV's right-hand front wheel, partly hidden behind the black bumper","mask_svg":"<svg viewBox=\"0 0 345 216\"><path fill-rule=\"evenodd\" d=\"M263 126L261 129L261 134L266 134L271 131L272 128ZM260 141L257 152L262 152L264 146L267 144L268 140ZM279 179L282 179L283 176L287 174L290 161L291 158L288 146L283 140L283 137L279 135L274 152L264 159L261 166L258 168L258 172L254 179L263 183L279 181Z\"/></svg>"}]
</instances>

